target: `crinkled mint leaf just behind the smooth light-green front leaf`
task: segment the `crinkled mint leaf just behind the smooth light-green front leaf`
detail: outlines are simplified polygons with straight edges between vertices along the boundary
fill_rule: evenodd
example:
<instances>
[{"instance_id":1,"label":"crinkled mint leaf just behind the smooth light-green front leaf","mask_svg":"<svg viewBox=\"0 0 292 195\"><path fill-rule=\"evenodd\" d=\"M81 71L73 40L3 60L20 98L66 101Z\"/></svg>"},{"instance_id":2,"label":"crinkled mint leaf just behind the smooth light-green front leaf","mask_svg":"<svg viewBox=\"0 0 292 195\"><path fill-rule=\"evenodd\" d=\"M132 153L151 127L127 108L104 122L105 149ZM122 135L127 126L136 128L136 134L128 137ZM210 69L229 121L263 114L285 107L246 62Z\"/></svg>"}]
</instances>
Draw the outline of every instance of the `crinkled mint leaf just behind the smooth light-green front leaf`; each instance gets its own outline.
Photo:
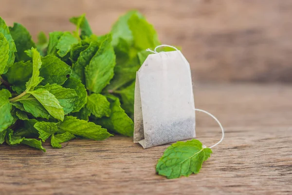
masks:
<instances>
[{"instance_id":1,"label":"crinkled mint leaf just behind the smooth light-green front leaf","mask_svg":"<svg viewBox=\"0 0 292 195\"><path fill-rule=\"evenodd\" d=\"M75 101L78 101L78 96L73 89L67 89L57 84L47 84L45 86L39 86L38 88L44 89L53 94L63 107L65 115L73 111Z\"/></svg>"}]
</instances>

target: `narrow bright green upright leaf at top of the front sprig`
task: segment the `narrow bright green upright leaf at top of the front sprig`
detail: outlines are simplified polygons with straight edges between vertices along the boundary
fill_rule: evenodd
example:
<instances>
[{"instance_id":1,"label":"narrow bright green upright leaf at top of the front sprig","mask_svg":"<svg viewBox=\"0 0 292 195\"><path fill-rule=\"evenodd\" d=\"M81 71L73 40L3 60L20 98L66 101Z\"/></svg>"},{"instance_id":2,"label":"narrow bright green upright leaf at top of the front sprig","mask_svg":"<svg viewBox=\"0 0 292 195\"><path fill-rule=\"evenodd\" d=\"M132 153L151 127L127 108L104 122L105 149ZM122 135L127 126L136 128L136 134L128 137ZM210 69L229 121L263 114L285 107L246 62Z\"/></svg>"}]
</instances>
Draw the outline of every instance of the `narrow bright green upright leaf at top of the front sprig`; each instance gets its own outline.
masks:
<instances>
[{"instance_id":1,"label":"narrow bright green upright leaf at top of the front sprig","mask_svg":"<svg viewBox=\"0 0 292 195\"><path fill-rule=\"evenodd\" d=\"M32 77L26 82L26 91L33 90L42 80L39 77L39 69L41 67L41 59L37 49L32 48L33 57L33 74Z\"/></svg>"}]
</instances>

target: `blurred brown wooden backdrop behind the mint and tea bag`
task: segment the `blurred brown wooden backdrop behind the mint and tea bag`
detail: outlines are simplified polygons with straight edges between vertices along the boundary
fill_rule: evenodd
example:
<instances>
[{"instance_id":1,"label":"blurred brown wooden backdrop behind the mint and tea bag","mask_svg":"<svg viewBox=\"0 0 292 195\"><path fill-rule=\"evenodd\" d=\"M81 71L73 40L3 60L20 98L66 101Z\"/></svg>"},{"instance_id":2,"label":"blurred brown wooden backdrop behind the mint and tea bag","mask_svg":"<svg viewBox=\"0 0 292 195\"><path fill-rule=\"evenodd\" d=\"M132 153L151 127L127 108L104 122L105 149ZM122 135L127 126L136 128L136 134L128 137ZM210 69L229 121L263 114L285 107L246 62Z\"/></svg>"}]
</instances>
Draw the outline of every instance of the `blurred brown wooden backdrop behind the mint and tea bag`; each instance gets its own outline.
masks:
<instances>
[{"instance_id":1,"label":"blurred brown wooden backdrop behind the mint and tea bag","mask_svg":"<svg viewBox=\"0 0 292 195\"><path fill-rule=\"evenodd\" d=\"M164 44L181 46L196 80L292 82L292 0L1 0L0 17L37 33L74 30L86 13L97 35L130 9Z\"/></svg>"}]
</instances>

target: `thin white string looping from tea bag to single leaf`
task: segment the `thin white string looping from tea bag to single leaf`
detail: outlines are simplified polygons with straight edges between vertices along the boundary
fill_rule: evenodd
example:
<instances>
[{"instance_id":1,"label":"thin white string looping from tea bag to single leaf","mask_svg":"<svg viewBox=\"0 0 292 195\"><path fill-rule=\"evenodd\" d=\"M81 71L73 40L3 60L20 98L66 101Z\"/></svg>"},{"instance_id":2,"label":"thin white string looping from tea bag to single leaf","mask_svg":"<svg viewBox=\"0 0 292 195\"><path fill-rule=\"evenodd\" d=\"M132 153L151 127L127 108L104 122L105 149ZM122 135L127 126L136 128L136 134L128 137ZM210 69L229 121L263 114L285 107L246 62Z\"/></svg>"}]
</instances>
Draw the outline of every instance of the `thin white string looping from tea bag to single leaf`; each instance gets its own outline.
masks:
<instances>
[{"instance_id":1,"label":"thin white string looping from tea bag to single leaf","mask_svg":"<svg viewBox=\"0 0 292 195\"><path fill-rule=\"evenodd\" d=\"M163 44L163 45L158 45L157 47L155 47L154 51L151 50L151 49L149 49L149 48L146 49L146 51L148 51L148 52L152 52L152 53L154 53L154 54L158 54L159 52L157 52L156 50L157 50L157 48L159 48L159 47L170 47L170 48L175 49L176 51L179 51L176 47L171 46L171 45L165 45L165 44ZM181 53L181 52L180 52L180 53ZM182 53L181 53L181 55L182 55L182 58L184 59ZM185 61L185 59L184 59L184 61ZM187 65L187 63L185 63L185 64ZM188 68L189 68L189 66L188 66ZM190 80L191 80L191 82L192 82L191 71L189 71L189 72L190 72ZM191 84L191 86L192 86L192 84ZM191 94L191 98L193 98L193 94ZM212 115L211 113L209 113L209 112L207 112L207 111L205 111L205 110L201 110L201 109L197 109L197 108L195 108L194 110L209 115L209 116L212 117L214 120L216 120L216 122L219 124L219 126L220 126L220 128L221 128L221 131L222 131L222 137L221 137L221 139L220 139L216 144L214 144L213 146L208 147L208 148L213 148L213 147L217 146L217 145L218 145L219 143L221 143L222 140L224 139L224 129L223 129L223 126L221 125L220 121L219 121L214 115ZM206 147L205 145L203 145L203 148L207 148L207 147Z\"/></svg>"}]
</instances>

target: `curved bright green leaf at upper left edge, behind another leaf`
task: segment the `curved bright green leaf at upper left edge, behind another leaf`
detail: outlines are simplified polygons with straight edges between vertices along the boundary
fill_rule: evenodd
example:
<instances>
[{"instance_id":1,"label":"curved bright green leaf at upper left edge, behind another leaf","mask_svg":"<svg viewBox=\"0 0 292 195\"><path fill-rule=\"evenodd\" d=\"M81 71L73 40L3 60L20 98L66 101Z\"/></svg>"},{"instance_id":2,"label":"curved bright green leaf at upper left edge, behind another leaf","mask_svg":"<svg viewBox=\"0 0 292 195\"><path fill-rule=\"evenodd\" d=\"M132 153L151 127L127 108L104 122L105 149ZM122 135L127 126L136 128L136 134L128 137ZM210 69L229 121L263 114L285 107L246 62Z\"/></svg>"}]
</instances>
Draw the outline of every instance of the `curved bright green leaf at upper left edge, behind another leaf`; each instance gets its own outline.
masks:
<instances>
[{"instance_id":1,"label":"curved bright green leaf at upper left edge, behind another leaf","mask_svg":"<svg viewBox=\"0 0 292 195\"><path fill-rule=\"evenodd\" d=\"M9 43L9 51L8 51L8 60L7 60L7 65L5 67L5 70L3 73L6 73L8 68L10 66L12 66L12 64L14 63L14 59L15 59L15 55L14 53L16 52L16 46L14 43L14 40L12 39L12 36L10 34L9 28L6 25L5 21L0 17L0 33L2 33L4 35L4 37L6 38L6 40ZM0 72L0 75L2 73Z\"/></svg>"}]
</instances>

